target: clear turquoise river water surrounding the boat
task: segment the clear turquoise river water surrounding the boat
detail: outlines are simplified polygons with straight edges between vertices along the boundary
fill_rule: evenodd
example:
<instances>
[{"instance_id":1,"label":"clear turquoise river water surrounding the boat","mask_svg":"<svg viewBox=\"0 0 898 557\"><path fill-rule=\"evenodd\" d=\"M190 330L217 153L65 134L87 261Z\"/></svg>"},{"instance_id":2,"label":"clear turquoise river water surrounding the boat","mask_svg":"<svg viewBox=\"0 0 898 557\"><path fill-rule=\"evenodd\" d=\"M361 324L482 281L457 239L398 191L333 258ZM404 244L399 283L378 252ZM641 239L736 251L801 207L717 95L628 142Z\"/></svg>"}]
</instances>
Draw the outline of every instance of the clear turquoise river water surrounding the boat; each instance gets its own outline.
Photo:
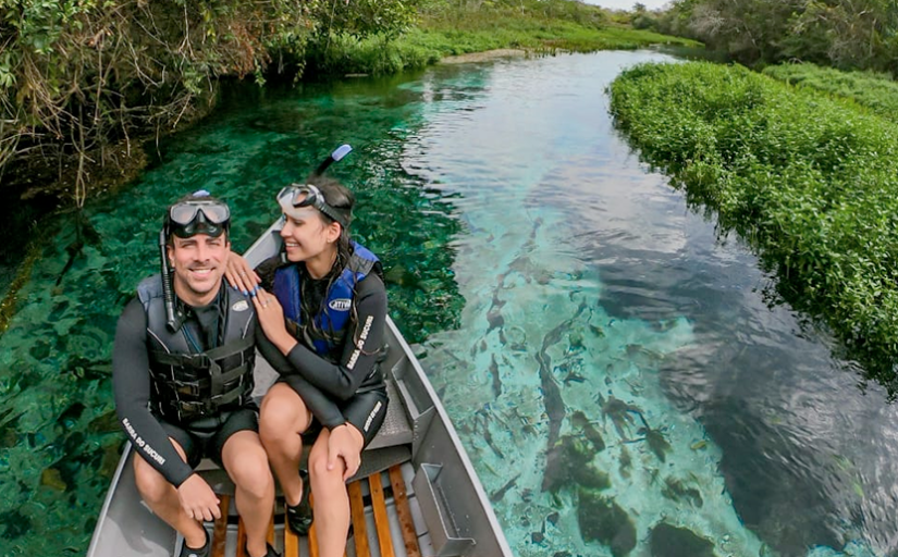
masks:
<instances>
[{"instance_id":1,"label":"clear turquoise river water surrounding the boat","mask_svg":"<svg viewBox=\"0 0 898 557\"><path fill-rule=\"evenodd\" d=\"M593 527L613 505L630 524L611 529L617 554L677 555L662 522L718 556L895 552L893 407L768 307L755 259L613 128L604 87L663 58L234 94L88 208L96 235L61 277L74 220L51 220L0 337L0 555L87 547L123 440L110 344L157 265L161 207L210 189L246 248L273 193L344 141L333 173L359 197L357 236L386 261L391 313L423 344L516 554L612 555Z\"/></svg>"}]
</instances>

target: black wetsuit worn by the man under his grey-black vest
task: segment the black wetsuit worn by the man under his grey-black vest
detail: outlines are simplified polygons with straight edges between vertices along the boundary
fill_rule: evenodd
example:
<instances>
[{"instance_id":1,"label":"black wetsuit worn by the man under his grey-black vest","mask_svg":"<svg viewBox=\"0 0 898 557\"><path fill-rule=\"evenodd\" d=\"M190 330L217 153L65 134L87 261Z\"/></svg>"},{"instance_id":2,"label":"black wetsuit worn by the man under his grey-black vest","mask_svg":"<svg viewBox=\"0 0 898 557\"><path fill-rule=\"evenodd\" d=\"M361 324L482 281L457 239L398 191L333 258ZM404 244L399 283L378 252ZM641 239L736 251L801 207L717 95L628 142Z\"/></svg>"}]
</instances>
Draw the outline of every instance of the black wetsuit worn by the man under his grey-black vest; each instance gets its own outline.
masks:
<instances>
[{"instance_id":1,"label":"black wetsuit worn by the man under his grey-black vest","mask_svg":"<svg viewBox=\"0 0 898 557\"><path fill-rule=\"evenodd\" d=\"M226 286L222 286L224 288ZM221 319L219 301L192 308L182 305L186 320L182 326L197 343L197 351L214 348L220 343ZM171 423L150 410L152 393L147 348L147 313L138 298L125 306L115 330L112 349L112 386L119 421L138 455L156 468L172 485L180 486L193 473L199 459L208 456L221 463L221 448L227 437L241 430L255 430L256 411L251 404L237 411L222 412L213 418ZM197 435L200 438L197 438ZM185 449L188 462L181 459L174 438Z\"/></svg>"}]
</instances>

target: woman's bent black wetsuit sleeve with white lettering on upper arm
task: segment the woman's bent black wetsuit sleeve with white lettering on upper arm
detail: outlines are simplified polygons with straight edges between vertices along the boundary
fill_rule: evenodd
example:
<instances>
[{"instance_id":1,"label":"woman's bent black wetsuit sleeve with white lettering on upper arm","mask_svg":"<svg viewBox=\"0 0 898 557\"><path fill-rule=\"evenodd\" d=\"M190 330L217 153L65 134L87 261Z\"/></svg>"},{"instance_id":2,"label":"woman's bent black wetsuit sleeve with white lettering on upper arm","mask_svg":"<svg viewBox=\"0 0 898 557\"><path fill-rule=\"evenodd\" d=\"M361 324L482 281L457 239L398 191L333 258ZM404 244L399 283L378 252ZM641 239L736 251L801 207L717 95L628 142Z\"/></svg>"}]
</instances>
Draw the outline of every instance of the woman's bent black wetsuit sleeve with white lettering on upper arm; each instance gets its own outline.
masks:
<instances>
[{"instance_id":1,"label":"woman's bent black wetsuit sleeve with white lettering on upper arm","mask_svg":"<svg viewBox=\"0 0 898 557\"><path fill-rule=\"evenodd\" d=\"M302 343L287 355L293 368L312 385L337 400L348 400L374 369L386 323L386 288L376 274L357 285L356 319L346 332L343 356L335 364Z\"/></svg>"}]
</instances>

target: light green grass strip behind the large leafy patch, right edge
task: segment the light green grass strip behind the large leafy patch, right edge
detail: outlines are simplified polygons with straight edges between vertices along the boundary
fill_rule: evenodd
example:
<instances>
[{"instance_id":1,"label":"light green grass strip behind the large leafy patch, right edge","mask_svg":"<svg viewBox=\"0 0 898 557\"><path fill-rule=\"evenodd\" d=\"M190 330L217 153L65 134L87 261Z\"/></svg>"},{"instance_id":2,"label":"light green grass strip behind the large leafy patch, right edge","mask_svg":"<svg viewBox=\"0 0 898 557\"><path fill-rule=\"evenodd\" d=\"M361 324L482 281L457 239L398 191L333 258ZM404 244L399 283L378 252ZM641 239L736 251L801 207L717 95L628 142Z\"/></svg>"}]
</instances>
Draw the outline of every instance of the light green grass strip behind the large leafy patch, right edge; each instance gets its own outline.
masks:
<instances>
[{"instance_id":1,"label":"light green grass strip behind the large leafy patch, right edge","mask_svg":"<svg viewBox=\"0 0 898 557\"><path fill-rule=\"evenodd\" d=\"M898 122L898 82L889 74L842 72L809 63L772 65L763 73L796 87L851 99L875 114Z\"/></svg>"}]
</instances>

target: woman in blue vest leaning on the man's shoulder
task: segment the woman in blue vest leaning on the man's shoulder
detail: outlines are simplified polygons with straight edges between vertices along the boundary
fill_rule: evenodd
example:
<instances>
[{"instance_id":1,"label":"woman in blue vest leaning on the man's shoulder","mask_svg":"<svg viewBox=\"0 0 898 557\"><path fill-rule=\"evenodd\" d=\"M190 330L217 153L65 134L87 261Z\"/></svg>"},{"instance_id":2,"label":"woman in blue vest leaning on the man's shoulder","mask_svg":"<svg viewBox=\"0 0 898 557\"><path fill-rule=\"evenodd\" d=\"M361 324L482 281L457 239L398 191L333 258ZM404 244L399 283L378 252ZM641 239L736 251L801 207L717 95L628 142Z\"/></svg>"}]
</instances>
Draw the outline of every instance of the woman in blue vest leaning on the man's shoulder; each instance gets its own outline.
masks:
<instances>
[{"instance_id":1,"label":"woman in blue vest leaning on the man's shoulder","mask_svg":"<svg viewBox=\"0 0 898 557\"><path fill-rule=\"evenodd\" d=\"M232 285L251 292L259 350L281 374L265 396L259 435L287 504L287 524L311 524L308 486L299 474L304 440L322 557L342 556L349 529L346 480L386 413L378 366L386 290L378 258L349 239L355 202L337 182L315 175L278 194L285 250L254 273L229 260Z\"/></svg>"}]
</instances>

